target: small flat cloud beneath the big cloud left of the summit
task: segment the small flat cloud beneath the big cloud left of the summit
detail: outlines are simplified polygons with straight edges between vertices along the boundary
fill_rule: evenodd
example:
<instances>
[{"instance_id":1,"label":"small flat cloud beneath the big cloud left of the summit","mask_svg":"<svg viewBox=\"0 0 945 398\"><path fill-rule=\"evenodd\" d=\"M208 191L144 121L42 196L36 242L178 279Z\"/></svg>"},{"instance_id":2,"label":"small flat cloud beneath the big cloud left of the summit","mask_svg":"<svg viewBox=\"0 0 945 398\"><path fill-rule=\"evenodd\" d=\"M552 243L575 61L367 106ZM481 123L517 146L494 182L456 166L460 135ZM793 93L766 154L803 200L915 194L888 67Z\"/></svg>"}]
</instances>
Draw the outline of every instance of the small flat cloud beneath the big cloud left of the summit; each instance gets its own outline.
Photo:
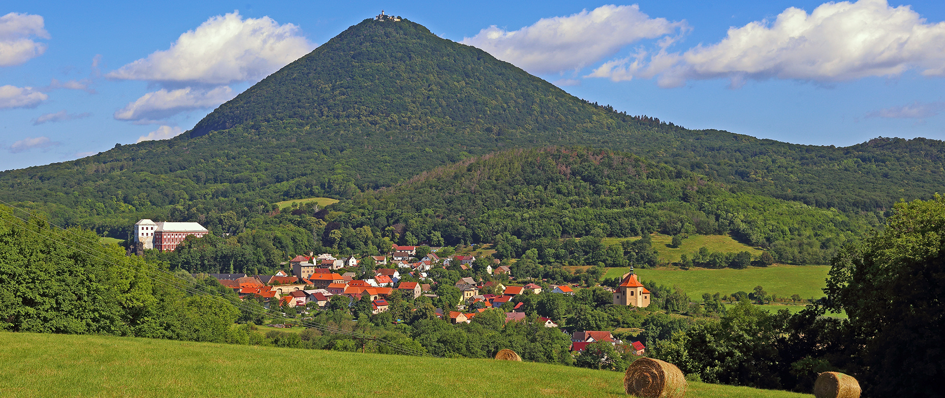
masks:
<instances>
[{"instance_id":1,"label":"small flat cloud beneath the big cloud left of the summit","mask_svg":"<svg viewBox=\"0 0 945 398\"><path fill-rule=\"evenodd\" d=\"M235 96L228 86L213 90L192 89L151 91L115 111L114 118L122 121L150 123L186 110L215 108Z\"/></svg>"}]
</instances>

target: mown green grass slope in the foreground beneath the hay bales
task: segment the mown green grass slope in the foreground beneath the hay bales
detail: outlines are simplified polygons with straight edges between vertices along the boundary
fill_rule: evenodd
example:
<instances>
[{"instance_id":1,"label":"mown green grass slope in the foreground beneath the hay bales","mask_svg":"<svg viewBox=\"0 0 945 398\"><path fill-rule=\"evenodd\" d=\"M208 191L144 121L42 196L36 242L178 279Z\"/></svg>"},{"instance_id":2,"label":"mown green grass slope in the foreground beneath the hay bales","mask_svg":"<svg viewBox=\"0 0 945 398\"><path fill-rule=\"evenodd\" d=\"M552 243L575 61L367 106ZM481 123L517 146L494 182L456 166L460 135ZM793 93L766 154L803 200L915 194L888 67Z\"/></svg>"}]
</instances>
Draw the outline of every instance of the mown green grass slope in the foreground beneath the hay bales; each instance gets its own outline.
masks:
<instances>
[{"instance_id":1,"label":"mown green grass slope in the foreground beneath the hay bales","mask_svg":"<svg viewBox=\"0 0 945 398\"><path fill-rule=\"evenodd\" d=\"M622 373L531 362L7 332L0 347L7 397L627 396ZM686 396L812 395L690 383Z\"/></svg>"}]
</instances>

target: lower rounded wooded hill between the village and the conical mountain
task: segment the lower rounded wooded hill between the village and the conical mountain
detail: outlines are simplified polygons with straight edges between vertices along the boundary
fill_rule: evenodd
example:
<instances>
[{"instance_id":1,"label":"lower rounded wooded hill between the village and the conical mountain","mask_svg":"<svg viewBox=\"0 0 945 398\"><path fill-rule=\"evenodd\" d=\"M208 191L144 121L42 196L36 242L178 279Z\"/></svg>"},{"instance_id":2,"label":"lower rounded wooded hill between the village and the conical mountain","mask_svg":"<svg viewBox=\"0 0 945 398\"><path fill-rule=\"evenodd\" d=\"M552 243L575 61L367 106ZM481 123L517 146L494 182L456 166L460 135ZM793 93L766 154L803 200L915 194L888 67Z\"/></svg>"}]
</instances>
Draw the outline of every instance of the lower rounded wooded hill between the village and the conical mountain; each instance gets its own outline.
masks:
<instances>
[{"instance_id":1,"label":"lower rounded wooded hill between the village and the conical mountain","mask_svg":"<svg viewBox=\"0 0 945 398\"><path fill-rule=\"evenodd\" d=\"M844 242L879 224L874 213L731 192L704 175L580 147L471 158L330 209L331 223L393 228L392 238L404 243L407 236L440 245L491 242L499 257L536 249L547 263L610 267L655 265L655 258L638 258L630 247L611 257L600 238L731 234L782 262L823 264ZM593 247L583 242L594 239Z\"/></svg>"}]
</instances>

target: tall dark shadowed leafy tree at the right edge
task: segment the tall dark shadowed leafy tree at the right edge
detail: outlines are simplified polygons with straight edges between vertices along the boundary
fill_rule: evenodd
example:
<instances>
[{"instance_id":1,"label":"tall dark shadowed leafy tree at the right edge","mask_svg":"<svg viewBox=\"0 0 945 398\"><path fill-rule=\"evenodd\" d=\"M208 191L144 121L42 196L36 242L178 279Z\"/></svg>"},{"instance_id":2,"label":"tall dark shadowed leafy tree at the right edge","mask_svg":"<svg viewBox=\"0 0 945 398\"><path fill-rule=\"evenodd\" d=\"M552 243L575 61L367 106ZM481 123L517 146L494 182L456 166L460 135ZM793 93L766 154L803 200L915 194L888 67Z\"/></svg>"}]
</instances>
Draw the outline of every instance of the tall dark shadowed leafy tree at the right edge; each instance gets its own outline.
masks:
<instances>
[{"instance_id":1,"label":"tall dark shadowed leafy tree at the right edge","mask_svg":"<svg viewBox=\"0 0 945 398\"><path fill-rule=\"evenodd\" d=\"M945 197L936 195L896 204L882 232L833 258L827 307L850 317L851 346L859 347L853 359L869 396L941 394L943 249Z\"/></svg>"}]
</instances>

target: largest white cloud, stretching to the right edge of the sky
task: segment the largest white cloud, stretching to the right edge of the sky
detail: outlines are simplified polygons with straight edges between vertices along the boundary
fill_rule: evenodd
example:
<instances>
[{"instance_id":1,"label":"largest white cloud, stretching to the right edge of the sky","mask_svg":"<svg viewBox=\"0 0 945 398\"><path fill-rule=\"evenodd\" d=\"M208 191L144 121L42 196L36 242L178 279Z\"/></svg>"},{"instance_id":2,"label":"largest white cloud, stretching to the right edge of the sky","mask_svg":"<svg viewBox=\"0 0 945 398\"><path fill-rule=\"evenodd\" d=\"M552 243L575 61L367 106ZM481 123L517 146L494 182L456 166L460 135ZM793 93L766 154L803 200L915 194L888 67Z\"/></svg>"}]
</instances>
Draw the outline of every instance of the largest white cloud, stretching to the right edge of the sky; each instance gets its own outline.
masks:
<instances>
[{"instance_id":1,"label":"largest white cloud, stretching to the right edge of the sky","mask_svg":"<svg viewBox=\"0 0 945 398\"><path fill-rule=\"evenodd\" d=\"M787 8L773 22L731 27L715 44L615 59L589 76L619 81L659 75L663 87L721 77L737 87L747 79L833 82L910 69L945 75L945 23L930 24L909 6L859 0L825 3L810 14Z\"/></svg>"}]
</instances>

